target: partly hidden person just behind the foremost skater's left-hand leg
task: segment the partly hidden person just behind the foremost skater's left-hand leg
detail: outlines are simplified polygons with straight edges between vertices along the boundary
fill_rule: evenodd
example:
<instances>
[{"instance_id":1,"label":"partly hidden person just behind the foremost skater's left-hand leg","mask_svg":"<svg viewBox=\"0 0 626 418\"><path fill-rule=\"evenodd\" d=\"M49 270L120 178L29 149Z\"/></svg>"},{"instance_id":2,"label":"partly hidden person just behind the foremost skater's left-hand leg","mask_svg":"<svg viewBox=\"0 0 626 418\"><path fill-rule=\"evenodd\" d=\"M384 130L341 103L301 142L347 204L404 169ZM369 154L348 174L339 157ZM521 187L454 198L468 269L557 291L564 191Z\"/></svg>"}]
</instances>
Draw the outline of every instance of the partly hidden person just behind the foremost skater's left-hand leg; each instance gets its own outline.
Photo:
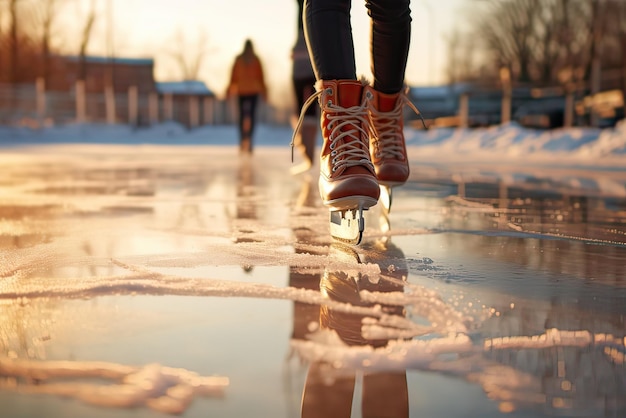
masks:
<instances>
[{"instance_id":1,"label":"partly hidden person just behind the foremost skater's left-hand leg","mask_svg":"<svg viewBox=\"0 0 626 418\"><path fill-rule=\"evenodd\" d=\"M291 51L292 71L291 81L296 98L295 115L292 119L292 127L297 126L300 109L304 107L306 100L315 92L315 73L309 58L309 51L304 39L304 24L302 22L302 12L304 10L304 0L298 1L298 36ZM294 145L297 146L302 155L302 163L292 167L292 174L300 174L308 171L315 163L315 145L317 140L317 124L319 123L319 112L317 107L309 106L304 111L302 124L294 138Z\"/></svg>"}]
</instances>

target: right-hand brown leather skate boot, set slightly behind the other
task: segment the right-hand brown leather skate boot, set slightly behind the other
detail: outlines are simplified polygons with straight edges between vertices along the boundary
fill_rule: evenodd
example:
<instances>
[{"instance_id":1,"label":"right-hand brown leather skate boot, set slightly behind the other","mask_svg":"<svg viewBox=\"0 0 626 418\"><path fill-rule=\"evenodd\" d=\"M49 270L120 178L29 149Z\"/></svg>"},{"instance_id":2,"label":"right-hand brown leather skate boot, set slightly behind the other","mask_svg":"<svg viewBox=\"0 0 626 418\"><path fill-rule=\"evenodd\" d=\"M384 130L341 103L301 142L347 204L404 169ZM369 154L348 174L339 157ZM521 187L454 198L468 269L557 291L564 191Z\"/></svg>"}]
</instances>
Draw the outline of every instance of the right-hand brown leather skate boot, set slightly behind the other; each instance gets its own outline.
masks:
<instances>
[{"instance_id":1,"label":"right-hand brown leather skate boot, set slightly behind the other","mask_svg":"<svg viewBox=\"0 0 626 418\"><path fill-rule=\"evenodd\" d=\"M370 116L370 155L378 182L387 187L404 184L409 178L409 160L404 143L402 108L404 93L385 94L365 87Z\"/></svg>"}]
</instances>

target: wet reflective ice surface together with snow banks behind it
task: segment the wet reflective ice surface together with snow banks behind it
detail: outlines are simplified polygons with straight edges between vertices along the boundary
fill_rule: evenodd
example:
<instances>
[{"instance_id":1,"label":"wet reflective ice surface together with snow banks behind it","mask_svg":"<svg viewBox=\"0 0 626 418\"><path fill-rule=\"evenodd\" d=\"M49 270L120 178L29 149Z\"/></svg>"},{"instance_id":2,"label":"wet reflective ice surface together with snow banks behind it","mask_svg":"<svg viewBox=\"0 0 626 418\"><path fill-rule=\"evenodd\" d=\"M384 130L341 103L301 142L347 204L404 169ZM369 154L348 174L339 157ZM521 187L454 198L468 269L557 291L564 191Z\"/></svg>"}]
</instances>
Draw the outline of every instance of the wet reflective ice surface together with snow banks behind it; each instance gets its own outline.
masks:
<instances>
[{"instance_id":1,"label":"wet reflective ice surface together with snow banks behind it","mask_svg":"<svg viewBox=\"0 0 626 418\"><path fill-rule=\"evenodd\" d=\"M407 137L344 247L288 129L0 128L2 417L626 415L626 126Z\"/></svg>"}]
</instances>

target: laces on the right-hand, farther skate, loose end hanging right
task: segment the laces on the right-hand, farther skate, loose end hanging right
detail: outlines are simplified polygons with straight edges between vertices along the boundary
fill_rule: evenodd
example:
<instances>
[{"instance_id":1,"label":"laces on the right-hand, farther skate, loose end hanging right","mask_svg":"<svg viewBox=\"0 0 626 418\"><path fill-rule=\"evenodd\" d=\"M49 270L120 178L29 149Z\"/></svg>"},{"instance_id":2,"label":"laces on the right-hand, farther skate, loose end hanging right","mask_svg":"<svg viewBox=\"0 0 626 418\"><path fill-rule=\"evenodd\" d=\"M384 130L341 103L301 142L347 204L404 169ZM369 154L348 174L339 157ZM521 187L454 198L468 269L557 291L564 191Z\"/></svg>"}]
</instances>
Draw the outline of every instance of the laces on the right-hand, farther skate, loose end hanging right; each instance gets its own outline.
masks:
<instances>
[{"instance_id":1,"label":"laces on the right-hand, farther skate, loose end hanging right","mask_svg":"<svg viewBox=\"0 0 626 418\"><path fill-rule=\"evenodd\" d=\"M368 100L372 99L371 94L366 95ZM370 136L375 138L374 156L376 158L395 158L404 160L404 135L400 131L398 120L402 115L404 106L408 106L420 117L424 129L428 129L422 112L408 99L405 92L400 94L398 102L393 110L389 112L381 112L375 106L370 106Z\"/></svg>"}]
</instances>

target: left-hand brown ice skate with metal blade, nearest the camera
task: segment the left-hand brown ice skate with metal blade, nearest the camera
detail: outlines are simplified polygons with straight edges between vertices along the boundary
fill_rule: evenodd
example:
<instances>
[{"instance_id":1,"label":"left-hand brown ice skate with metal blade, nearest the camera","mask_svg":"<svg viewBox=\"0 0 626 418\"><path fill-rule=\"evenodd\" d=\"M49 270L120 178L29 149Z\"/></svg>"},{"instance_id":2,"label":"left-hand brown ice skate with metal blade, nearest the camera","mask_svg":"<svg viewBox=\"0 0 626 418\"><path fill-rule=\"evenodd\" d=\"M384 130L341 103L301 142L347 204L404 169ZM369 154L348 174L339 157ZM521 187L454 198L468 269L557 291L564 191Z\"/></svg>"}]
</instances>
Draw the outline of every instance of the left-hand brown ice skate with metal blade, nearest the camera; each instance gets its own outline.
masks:
<instances>
[{"instance_id":1,"label":"left-hand brown ice skate with metal blade, nearest the camera","mask_svg":"<svg viewBox=\"0 0 626 418\"><path fill-rule=\"evenodd\" d=\"M303 111L319 100L324 142L318 185L322 202L330 210L330 233L337 240L359 244L365 229L363 212L380 195L369 154L363 85L356 80L321 80L316 88Z\"/></svg>"}]
</instances>

